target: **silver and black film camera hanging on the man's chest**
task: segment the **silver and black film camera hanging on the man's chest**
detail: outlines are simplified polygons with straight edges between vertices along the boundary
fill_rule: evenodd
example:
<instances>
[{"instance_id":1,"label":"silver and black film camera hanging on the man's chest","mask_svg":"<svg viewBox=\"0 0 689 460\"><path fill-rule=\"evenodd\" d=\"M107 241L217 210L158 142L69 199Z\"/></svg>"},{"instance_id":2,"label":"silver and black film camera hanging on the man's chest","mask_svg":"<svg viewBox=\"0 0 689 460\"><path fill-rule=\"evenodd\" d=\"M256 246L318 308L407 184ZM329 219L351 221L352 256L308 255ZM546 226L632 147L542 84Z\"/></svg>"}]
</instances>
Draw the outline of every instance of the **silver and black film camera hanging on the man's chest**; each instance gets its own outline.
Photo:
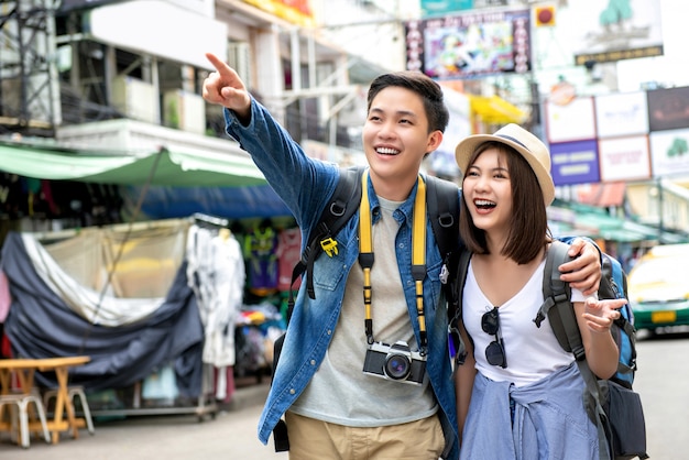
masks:
<instances>
[{"instance_id":1,"label":"silver and black film camera hanging on the man's chest","mask_svg":"<svg viewBox=\"0 0 689 460\"><path fill-rule=\"evenodd\" d=\"M369 346L363 373L412 385L420 385L426 373L426 357L412 351L407 342L390 346L374 342Z\"/></svg>"}]
</instances>

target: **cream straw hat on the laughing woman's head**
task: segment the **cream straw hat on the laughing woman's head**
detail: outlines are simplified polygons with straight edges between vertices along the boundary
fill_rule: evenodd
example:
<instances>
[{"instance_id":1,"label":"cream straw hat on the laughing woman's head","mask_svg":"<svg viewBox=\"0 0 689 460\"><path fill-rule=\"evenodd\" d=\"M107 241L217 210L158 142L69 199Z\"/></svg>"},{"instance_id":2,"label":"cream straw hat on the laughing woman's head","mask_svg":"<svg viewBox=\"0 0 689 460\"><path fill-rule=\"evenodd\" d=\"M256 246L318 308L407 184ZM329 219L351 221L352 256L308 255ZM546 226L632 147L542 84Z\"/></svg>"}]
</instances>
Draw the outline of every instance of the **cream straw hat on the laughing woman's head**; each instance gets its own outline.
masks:
<instances>
[{"instance_id":1,"label":"cream straw hat on the laughing woman's head","mask_svg":"<svg viewBox=\"0 0 689 460\"><path fill-rule=\"evenodd\" d=\"M470 135L457 144L455 155L462 174L467 171L469 158L471 158L477 147L488 141L501 142L520 152L536 174L546 206L553 202L555 199L555 184L550 176L550 152L540 142L540 139L518 124L510 123L497 130L495 134Z\"/></svg>"}]
</instances>

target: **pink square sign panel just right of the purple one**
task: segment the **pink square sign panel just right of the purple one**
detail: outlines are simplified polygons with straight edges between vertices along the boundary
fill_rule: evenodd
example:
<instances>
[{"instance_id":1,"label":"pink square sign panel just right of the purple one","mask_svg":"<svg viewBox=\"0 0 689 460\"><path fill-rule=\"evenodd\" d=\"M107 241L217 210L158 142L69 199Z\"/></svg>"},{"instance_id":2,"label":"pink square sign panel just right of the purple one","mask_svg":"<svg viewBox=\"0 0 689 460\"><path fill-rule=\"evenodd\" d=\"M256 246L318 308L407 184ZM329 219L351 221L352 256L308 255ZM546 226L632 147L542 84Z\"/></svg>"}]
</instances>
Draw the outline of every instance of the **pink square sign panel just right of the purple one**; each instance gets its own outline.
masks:
<instances>
[{"instance_id":1,"label":"pink square sign panel just right of the purple one","mask_svg":"<svg viewBox=\"0 0 689 460\"><path fill-rule=\"evenodd\" d=\"M598 143L601 182L650 178L650 151L647 135L602 139Z\"/></svg>"}]
</instances>

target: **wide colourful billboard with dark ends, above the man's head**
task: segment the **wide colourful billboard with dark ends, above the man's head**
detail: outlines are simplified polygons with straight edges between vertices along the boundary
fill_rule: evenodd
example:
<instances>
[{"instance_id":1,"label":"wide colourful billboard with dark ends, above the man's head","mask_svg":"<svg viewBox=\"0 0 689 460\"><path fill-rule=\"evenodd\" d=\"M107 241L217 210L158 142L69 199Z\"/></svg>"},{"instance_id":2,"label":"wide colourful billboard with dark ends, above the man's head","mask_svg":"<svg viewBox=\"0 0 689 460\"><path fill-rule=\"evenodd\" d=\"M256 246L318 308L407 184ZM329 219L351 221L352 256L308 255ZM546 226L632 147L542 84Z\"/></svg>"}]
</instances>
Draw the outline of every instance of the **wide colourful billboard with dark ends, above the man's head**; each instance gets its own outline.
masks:
<instances>
[{"instance_id":1,"label":"wide colourful billboard with dark ends, above the man's head","mask_svg":"<svg viewBox=\"0 0 689 460\"><path fill-rule=\"evenodd\" d=\"M407 69L431 78L531 70L529 10L491 10L405 24Z\"/></svg>"}]
</instances>

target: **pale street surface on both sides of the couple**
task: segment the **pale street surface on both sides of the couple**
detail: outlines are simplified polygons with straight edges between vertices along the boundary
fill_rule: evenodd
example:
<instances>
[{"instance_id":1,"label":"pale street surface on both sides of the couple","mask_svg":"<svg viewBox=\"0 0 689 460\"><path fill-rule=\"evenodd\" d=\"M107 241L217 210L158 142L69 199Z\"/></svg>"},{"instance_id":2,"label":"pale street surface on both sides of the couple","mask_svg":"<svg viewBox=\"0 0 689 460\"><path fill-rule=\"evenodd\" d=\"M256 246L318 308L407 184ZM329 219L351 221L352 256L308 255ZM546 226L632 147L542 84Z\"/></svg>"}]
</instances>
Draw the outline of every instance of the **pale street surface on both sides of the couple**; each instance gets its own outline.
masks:
<instances>
[{"instance_id":1,"label":"pale street surface on both sides of the couple","mask_svg":"<svg viewBox=\"0 0 689 460\"><path fill-rule=\"evenodd\" d=\"M645 333L639 335L642 338ZM689 330L658 335L637 342L638 372L634 383L644 403L652 459L685 460L689 446ZM32 439L31 448L10 443L3 436L0 459L43 460L186 460L186 459L287 459L275 453L272 439L263 446L256 438L256 423L266 384L238 393L244 399L215 419L196 416L129 417L96 423L96 434L79 432L79 439L63 435L56 446Z\"/></svg>"}]
</instances>

